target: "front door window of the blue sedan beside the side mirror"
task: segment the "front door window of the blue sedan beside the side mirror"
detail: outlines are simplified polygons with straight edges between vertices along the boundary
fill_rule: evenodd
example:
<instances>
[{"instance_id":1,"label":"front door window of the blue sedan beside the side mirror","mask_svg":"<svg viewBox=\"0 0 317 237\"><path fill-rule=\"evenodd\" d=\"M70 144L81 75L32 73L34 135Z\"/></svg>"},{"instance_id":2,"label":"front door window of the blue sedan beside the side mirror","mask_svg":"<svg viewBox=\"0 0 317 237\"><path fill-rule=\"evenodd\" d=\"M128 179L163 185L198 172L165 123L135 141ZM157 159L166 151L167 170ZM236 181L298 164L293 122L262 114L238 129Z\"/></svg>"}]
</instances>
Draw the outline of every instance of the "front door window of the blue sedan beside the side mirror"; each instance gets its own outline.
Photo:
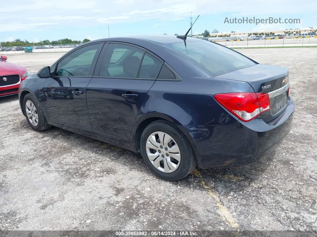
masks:
<instances>
[{"instance_id":1,"label":"front door window of the blue sedan beside the side mirror","mask_svg":"<svg viewBox=\"0 0 317 237\"><path fill-rule=\"evenodd\" d=\"M92 63L101 44L82 47L62 59L56 70L57 76L92 76Z\"/></svg>"}]
</instances>

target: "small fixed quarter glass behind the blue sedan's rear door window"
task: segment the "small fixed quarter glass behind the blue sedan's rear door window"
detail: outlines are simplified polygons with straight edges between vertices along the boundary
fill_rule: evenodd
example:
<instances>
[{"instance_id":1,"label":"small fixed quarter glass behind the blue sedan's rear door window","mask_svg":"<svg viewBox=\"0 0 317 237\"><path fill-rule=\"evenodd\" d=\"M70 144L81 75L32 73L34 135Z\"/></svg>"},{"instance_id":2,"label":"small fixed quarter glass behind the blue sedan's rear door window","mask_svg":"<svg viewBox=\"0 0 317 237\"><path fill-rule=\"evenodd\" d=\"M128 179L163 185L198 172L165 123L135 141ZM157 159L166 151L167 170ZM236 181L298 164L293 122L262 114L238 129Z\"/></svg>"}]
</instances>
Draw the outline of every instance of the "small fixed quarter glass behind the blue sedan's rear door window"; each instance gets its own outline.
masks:
<instances>
[{"instance_id":1,"label":"small fixed quarter glass behind the blue sedan's rear door window","mask_svg":"<svg viewBox=\"0 0 317 237\"><path fill-rule=\"evenodd\" d=\"M140 67L138 78L154 78L156 79L159 74L159 70L162 67L163 62L153 57L149 53L145 53Z\"/></svg>"}]
</instances>

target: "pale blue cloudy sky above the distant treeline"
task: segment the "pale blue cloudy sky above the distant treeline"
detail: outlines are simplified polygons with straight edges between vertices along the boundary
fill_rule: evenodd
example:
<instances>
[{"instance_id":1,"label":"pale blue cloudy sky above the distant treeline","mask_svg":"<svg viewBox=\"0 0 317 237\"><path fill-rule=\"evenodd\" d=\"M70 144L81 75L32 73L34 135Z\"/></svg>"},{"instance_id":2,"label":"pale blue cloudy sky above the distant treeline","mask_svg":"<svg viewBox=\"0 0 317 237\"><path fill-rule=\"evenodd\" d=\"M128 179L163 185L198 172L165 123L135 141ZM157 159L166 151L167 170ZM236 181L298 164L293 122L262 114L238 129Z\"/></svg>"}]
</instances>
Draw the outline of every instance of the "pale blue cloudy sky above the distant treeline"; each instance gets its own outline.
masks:
<instances>
[{"instance_id":1,"label":"pale blue cloudy sky above the distant treeline","mask_svg":"<svg viewBox=\"0 0 317 237\"><path fill-rule=\"evenodd\" d=\"M0 7L0 41L94 40L108 37L108 25L110 37L185 34L191 12L193 20L200 15L193 34L214 28L238 32L317 27L316 10L315 0L6 0ZM228 24L226 17L296 18L301 23Z\"/></svg>"}]
</instances>

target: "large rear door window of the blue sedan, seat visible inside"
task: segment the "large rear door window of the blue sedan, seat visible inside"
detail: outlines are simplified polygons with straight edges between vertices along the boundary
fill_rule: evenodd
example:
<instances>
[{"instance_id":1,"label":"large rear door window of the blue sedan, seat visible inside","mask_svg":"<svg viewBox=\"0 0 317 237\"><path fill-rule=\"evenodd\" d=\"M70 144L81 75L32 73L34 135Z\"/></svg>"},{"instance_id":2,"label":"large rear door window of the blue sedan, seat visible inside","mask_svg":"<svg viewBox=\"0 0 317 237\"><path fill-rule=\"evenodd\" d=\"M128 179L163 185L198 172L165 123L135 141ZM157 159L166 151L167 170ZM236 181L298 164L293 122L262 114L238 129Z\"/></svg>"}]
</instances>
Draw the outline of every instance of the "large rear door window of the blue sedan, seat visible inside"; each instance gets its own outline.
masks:
<instances>
[{"instance_id":1,"label":"large rear door window of the blue sedan, seat visible inside","mask_svg":"<svg viewBox=\"0 0 317 237\"><path fill-rule=\"evenodd\" d=\"M137 78L143 50L124 44L109 44L100 76Z\"/></svg>"}]
</instances>

